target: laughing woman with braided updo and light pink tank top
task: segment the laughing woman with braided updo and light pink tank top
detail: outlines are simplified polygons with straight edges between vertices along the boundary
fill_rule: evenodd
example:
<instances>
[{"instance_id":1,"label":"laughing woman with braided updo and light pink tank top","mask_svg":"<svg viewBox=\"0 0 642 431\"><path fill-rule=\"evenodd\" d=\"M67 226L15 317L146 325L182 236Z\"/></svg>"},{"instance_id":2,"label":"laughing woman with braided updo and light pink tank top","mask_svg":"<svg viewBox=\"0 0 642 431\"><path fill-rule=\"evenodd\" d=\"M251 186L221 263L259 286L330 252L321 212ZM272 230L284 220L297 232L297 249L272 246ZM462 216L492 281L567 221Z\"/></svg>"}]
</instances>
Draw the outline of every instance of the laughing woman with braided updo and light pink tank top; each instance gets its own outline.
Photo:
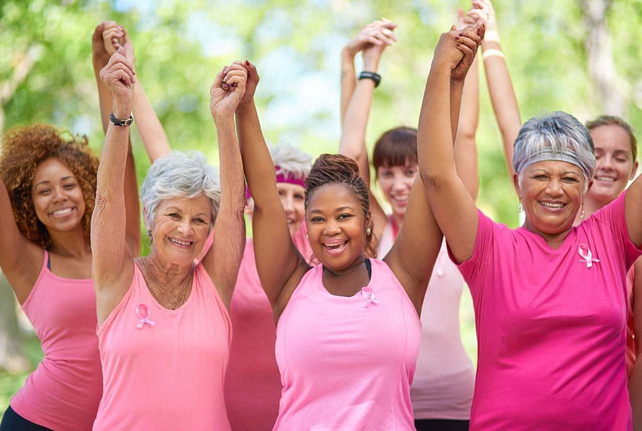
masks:
<instances>
[{"instance_id":1,"label":"laughing woman with braided updo and light pink tank top","mask_svg":"<svg viewBox=\"0 0 642 431\"><path fill-rule=\"evenodd\" d=\"M384 260L370 259L369 192L358 166L342 155L320 156L306 178L308 239L320 262L309 266L290 238L251 98L256 69L247 69L247 103L236 118L255 203L257 272L277 322L283 391L274 428L413 430L419 313L441 244L421 182L395 245ZM461 87L453 89L458 100Z\"/></svg>"}]
</instances>

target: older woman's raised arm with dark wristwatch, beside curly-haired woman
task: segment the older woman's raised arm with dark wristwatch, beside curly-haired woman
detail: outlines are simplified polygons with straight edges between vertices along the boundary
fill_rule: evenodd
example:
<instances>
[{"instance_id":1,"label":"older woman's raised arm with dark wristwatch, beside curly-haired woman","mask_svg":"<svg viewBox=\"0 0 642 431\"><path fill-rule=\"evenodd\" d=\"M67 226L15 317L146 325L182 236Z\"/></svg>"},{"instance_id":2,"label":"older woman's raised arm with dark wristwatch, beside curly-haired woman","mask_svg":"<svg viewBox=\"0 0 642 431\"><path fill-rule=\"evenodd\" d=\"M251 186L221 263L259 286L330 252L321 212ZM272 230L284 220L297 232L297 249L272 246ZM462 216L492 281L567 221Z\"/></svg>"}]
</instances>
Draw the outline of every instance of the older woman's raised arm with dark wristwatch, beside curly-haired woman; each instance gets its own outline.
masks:
<instances>
[{"instance_id":1,"label":"older woman's raised arm with dark wristwatch, beside curly-haired woman","mask_svg":"<svg viewBox=\"0 0 642 431\"><path fill-rule=\"evenodd\" d=\"M113 97L116 119L128 119L134 103L134 66L119 48L100 77ZM132 252L126 246L125 162L129 128L109 124L96 185L91 217L92 278L96 289L98 324L107 319L134 277Z\"/></svg>"}]
</instances>

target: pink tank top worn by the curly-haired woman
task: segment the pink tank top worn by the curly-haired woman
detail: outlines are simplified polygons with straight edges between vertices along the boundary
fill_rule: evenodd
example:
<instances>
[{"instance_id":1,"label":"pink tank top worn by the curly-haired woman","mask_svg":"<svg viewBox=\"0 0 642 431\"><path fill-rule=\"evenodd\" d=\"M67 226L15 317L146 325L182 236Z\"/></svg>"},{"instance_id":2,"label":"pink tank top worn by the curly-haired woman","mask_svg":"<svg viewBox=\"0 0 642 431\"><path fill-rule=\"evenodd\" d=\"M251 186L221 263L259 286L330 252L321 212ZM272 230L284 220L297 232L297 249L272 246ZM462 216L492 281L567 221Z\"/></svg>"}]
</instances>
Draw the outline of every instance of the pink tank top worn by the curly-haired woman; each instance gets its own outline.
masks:
<instances>
[{"instance_id":1,"label":"pink tank top worn by the curly-haired woman","mask_svg":"<svg viewBox=\"0 0 642 431\"><path fill-rule=\"evenodd\" d=\"M62 278L47 267L22 304L44 358L11 399L22 418L55 430L91 430L103 381L91 279Z\"/></svg>"}]
</instances>

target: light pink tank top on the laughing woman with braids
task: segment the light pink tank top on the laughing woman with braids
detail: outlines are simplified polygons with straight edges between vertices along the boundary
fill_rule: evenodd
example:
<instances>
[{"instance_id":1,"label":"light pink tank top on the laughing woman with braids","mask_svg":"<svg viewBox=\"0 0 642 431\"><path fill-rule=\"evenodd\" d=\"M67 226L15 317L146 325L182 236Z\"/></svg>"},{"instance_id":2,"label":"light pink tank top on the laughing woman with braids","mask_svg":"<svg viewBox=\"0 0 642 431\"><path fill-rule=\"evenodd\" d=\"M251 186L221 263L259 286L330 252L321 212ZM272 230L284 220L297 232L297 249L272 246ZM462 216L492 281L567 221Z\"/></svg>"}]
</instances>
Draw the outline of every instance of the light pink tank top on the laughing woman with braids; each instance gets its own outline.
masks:
<instances>
[{"instance_id":1,"label":"light pink tank top on the laughing woman with braids","mask_svg":"<svg viewBox=\"0 0 642 431\"><path fill-rule=\"evenodd\" d=\"M321 265L292 294L277 325L275 430L415 429L419 317L385 262L370 262L370 282L354 296L325 290Z\"/></svg>"}]
</instances>

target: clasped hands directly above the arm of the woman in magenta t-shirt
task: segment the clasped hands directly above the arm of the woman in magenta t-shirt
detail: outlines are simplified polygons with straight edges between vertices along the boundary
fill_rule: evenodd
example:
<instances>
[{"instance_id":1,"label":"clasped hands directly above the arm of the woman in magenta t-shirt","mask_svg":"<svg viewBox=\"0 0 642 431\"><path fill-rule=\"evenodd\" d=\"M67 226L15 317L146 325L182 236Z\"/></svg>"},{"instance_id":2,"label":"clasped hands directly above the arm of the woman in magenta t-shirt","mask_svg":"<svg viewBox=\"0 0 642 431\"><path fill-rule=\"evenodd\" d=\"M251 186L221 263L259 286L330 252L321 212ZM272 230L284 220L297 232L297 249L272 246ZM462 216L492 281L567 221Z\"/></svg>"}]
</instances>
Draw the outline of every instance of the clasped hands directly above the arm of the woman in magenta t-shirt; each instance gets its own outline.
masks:
<instances>
[{"instance_id":1,"label":"clasped hands directly above the arm of the woman in magenta t-shirt","mask_svg":"<svg viewBox=\"0 0 642 431\"><path fill-rule=\"evenodd\" d=\"M483 40L484 31L485 22L480 21L474 27L457 30L453 26L450 31L442 33L435 47L433 67L449 67L451 80L463 82Z\"/></svg>"}]
</instances>

